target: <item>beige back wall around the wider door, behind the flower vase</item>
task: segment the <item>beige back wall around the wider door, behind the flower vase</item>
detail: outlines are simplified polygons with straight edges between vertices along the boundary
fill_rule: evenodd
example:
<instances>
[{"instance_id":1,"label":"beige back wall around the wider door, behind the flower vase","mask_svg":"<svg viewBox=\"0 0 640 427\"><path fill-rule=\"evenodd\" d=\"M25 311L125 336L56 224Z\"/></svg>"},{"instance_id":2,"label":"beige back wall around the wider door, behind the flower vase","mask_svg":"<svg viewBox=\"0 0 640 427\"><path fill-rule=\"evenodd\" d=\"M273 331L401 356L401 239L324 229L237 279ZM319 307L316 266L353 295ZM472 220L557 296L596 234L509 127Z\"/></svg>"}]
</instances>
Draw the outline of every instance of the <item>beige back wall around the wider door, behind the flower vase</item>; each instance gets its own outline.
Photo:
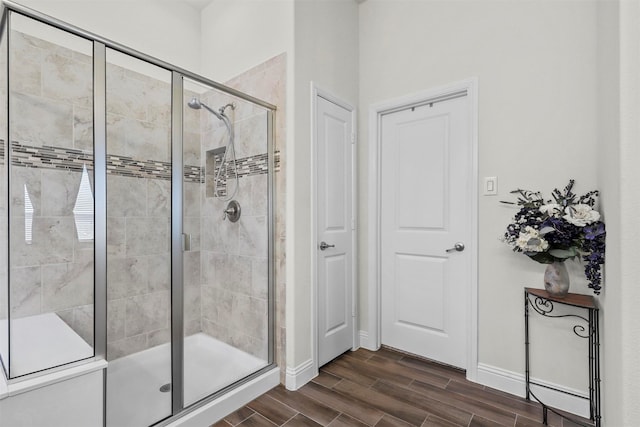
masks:
<instances>
[{"instance_id":1,"label":"beige back wall around the wider door, behind the flower vase","mask_svg":"<svg viewBox=\"0 0 640 427\"><path fill-rule=\"evenodd\" d=\"M478 350L491 367L523 373L523 287L541 287L544 271L499 241L514 214L499 201L516 188L550 196L570 178L580 193L598 186L596 10L593 1L360 5L360 206L367 206L370 106L478 78L479 182L497 176L499 193L480 195L478 206ZM368 215L360 212L360 322L368 331ZM580 268L572 268L572 291L588 293ZM569 348L567 357L579 351ZM538 375L577 388L584 384L577 369Z\"/></svg>"}]
</instances>

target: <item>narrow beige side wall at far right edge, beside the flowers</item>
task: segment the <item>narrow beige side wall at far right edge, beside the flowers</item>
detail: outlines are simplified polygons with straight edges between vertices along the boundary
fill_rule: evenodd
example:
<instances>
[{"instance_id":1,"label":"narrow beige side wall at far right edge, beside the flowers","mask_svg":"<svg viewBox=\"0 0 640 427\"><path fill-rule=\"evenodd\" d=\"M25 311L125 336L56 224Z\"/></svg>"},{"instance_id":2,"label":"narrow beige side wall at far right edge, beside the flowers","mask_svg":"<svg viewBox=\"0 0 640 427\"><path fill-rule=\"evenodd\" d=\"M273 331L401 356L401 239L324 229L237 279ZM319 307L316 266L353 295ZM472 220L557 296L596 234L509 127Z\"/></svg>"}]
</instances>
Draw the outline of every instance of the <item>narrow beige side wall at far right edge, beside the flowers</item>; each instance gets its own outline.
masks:
<instances>
[{"instance_id":1,"label":"narrow beige side wall at far right edge, beside the flowers","mask_svg":"<svg viewBox=\"0 0 640 427\"><path fill-rule=\"evenodd\" d=\"M615 75L611 76L611 71L603 75L603 78L611 76L612 83L619 83L619 117L604 116L619 126L619 132L616 134L615 130L610 130L605 134L608 138L601 141L605 147L614 146L612 159L607 165L610 167L603 175L604 185L618 198L608 207L614 215L613 221L618 224L611 228L607 239L607 257L613 263L607 264L611 291L606 294L603 310L604 415L608 426L634 426L640 417L640 385L637 381L640 377L640 315L637 309L640 301L637 285L640 275L637 260L637 242L640 239L637 215L640 209L640 4L621 1L618 7L619 80ZM615 17L612 21L615 25ZM616 71L614 66L613 72ZM615 102L617 99L613 96L612 100ZM619 148L615 147L617 137Z\"/></svg>"}]
</instances>

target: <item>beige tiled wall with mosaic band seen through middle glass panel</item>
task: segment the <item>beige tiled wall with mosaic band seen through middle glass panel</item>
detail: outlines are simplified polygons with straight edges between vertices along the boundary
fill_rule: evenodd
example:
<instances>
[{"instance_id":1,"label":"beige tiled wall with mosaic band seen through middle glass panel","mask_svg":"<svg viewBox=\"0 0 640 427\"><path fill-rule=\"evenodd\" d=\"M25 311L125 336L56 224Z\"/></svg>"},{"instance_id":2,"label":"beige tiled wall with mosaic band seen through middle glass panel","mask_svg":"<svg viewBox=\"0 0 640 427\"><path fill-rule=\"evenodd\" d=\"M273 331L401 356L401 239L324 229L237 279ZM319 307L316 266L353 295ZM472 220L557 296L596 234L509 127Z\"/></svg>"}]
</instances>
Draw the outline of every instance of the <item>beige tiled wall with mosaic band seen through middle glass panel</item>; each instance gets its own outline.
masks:
<instances>
[{"instance_id":1,"label":"beige tiled wall with mosaic band seen through middle glass panel","mask_svg":"<svg viewBox=\"0 0 640 427\"><path fill-rule=\"evenodd\" d=\"M107 52L109 360L171 338L171 75L131 71L114 65L112 55Z\"/></svg>"}]
</instances>

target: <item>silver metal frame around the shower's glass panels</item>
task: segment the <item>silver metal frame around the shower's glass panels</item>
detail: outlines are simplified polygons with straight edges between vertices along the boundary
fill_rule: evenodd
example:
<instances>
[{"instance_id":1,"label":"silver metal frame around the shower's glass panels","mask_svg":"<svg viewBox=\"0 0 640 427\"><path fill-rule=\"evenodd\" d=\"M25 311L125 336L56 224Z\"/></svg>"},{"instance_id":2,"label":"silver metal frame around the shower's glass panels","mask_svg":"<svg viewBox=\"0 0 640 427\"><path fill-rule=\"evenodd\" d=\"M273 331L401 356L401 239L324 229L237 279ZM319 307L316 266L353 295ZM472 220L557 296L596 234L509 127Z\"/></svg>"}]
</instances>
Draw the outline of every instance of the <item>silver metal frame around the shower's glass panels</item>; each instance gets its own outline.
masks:
<instances>
[{"instance_id":1,"label":"silver metal frame around the shower's glass panels","mask_svg":"<svg viewBox=\"0 0 640 427\"><path fill-rule=\"evenodd\" d=\"M106 360L107 357L107 251L106 251L106 51L112 49L114 51L129 55L133 58L145 61L149 64L163 68L172 73L172 101L171 101L171 144L172 144L172 174L171 174L171 336L172 336L172 415L166 419L159 421L156 425L162 426L169 424L181 416L188 414L258 376L271 370L275 366L275 244L274 244L274 207L275 191L274 191L274 141L275 141L275 111L276 106L265 102L261 99L247 95L231 87L221 83L209 80L203 76L177 67L150 55L131 49L119 43L113 42L104 37L100 37L89 31L78 28L31 8L22 6L9 0L0 0L0 31L6 26L8 12L15 12L27 18L31 18L40 23L52 26L59 30L81 37L93 43L93 125L94 125L94 357L72 362L60 367L47 369L45 372L56 372L84 364L91 360ZM8 40L7 27L7 40ZM7 45L7 54L9 54L9 46ZM7 62L7 73L9 64ZM8 74L7 74L8 75ZM183 79L187 77L195 82L204 84L212 89L225 92L229 95L237 97L241 100L250 102L265 108L267 113L267 186L268 186L268 361L267 366L254 372L248 377L219 390L208 397L188 406L184 407L184 375L183 375L183 246L182 246L182 185L184 168L183 160L183 140L182 140L182 116L183 116ZM7 81L7 114L9 114L9 83ZM7 126L7 134L10 135L10 124ZM10 162L10 144L7 143L7 152L5 158L7 163ZM7 175L9 168L7 168ZM8 179L8 177L5 177ZM9 181L8 185L9 185ZM7 197L8 200L8 197ZM9 243L7 240L7 247ZM9 256L9 251L7 251ZM9 274L9 272L7 272ZM29 374L21 377L28 379L34 375L42 375L42 372ZM104 410L106 412L106 371L104 381ZM179 391L176 392L176 389ZM106 423L106 417L104 417Z\"/></svg>"}]
</instances>

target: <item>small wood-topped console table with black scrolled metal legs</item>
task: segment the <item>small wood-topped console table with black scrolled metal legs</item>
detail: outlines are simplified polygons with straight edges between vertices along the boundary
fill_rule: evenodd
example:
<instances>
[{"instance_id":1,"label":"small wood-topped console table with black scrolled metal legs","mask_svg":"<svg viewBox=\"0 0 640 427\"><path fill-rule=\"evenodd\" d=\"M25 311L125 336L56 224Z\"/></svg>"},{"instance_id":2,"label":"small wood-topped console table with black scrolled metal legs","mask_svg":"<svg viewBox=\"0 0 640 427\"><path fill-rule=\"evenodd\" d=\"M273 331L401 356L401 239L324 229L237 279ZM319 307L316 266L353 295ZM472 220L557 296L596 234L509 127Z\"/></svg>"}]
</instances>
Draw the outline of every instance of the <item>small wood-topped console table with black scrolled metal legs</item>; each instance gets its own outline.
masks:
<instances>
[{"instance_id":1,"label":"small wood-topped console table with black scrolled metal legs","mask_svg":"<svg viewBox=\"0 0 640 427\"><path fill-rule=\"evenodd\" d=\"M581 314L554 314L554 304L562 304L570 307L575 307ZM552 390L567 393L563 390L558 390L548 385L537 384L531 381L529 377L529 309L533 309L536 313L544 317L568 317L576 318L580 322L585 324L577 324L573 327L573 332L580 338L589 340L589 408L590 418L594 424L585 424L565 414L556 412L553 408L547 406L544 402L538 399L531 392L531 385L537 385ZM584 316L587 314L587 317ZM547 293L543 289L525 288L524 289L524 337L525 337L525 381L526 381L526 397L527 400L531 400L533 397L542 405L542 422L547 425L547 411L551 411L561 416L562 418L569 419L570 421L582 425L591 427L600 427L602 416L600 406L600 331L598 324L598 307L595 300L590 295L581 294L568 294L564 298L555 298ZM572 394L573 395L573 394ZM576 396L586 399L582 396Z\"/></svg>"}]
</instances>

